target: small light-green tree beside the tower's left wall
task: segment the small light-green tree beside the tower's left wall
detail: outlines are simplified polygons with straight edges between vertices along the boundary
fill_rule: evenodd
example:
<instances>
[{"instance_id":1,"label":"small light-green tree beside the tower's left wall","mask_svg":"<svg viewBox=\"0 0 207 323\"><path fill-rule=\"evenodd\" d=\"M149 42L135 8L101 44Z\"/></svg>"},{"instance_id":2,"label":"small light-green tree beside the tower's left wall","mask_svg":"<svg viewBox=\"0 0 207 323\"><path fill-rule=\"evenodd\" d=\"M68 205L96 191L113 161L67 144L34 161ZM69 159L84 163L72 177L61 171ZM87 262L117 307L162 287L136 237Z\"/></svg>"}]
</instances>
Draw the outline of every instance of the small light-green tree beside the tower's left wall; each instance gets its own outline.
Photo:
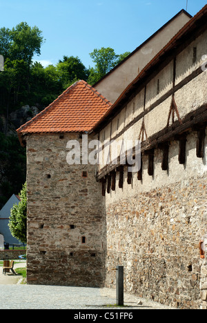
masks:
<instances>
[{"instance_id":1,"label":"small light-green tree beside the tower's left wall","mask_svg":"<svg viewBox=\"0 0 207 323\"><path fill-rule=\"evenodd\" d=\"M12 236L23 243L27 242L27 186L26 183L19 194L21 201L14 204L9 219L9 228Z\"/></svg>"}]
</instances>

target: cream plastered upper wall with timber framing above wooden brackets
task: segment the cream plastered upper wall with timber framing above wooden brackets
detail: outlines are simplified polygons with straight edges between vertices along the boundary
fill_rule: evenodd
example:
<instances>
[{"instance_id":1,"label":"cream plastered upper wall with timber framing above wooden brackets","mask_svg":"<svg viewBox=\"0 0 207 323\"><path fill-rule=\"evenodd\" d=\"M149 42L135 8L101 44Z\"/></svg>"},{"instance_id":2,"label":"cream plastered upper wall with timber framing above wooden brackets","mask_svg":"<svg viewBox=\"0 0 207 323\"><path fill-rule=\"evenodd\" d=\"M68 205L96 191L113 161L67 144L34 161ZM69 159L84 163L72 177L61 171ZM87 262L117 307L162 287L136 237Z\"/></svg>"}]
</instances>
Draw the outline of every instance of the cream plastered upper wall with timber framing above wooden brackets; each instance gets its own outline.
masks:
<instances>
[{"instance_id":1,"label":"cream plastered upper wall with timber framing above wooden brackets","mask_svg":"<svg viewBox=\"0 0 207 323\"><path fill-rule=\"evenodd\" d=\"M179 84L189 75L192 75L195 70L201 70L201 65L204 62L202 57L204 57L205 53L207 52L206 39L207 30L199 35L199 37L196 37L193 42L186 46L186 48L184 48L184 50L177 55L175 85ZM194 48L197 48L197 58L195 62L193 61ZM159 93L157 93L158 79ZM136 117L139 117L139 115L141 115L145 109L150 108L152 104L156 104L161 97L166 95L166 93L172 88L172 79L173 59L146 84L145 108L143 88L137 93L137 95L135 95L135 97L129 100L128 104L126 104L119 114L112 118L108 125L99 132L99 139L102 145L104 141L112 141L115 138L119 142L121 142L123 139L124 141L131 139L133 141L138 140L143 118L140 118L137 122L132 124L132 126L128 125L130 125L130 122ZM181 86L181 88L175 92L175 102L177 104L179 117L181 119L183 119L189 112L193 112L197 110L197 108L207 103L206 87L207 74L206 71L203 71L201 74L188 81L184 86ZM150 111L144 116L146 134L148 138L155 133L158 133L160 130L163 130L167 126L171 102L172 95L168 95L166 99L161 101L161 103L157 103L157 105L153 109L150 109ZM176 120L177 115L175 115L175 121ZM170 124L172 124L171 119ZM124 131L125 128L126 130ZM106 160L106 157L104 159L104 156L106 155L108 155L108 148L103 148L102 160ZM120 155L120 147L117 151L117 155ZM104 162L103 164L99 165L99 171L104 166Z\"/></svg>"}]
</instances>

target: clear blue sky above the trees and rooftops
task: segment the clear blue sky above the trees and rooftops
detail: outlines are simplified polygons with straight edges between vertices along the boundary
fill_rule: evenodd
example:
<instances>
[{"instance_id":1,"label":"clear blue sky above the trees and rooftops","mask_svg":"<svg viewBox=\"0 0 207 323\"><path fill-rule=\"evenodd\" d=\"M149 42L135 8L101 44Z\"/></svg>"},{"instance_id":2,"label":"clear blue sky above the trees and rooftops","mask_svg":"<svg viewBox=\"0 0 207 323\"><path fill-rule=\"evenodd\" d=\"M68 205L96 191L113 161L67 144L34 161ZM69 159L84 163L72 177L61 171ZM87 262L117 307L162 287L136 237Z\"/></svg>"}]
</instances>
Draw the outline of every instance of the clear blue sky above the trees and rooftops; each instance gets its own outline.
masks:
<instances>
[{"instance_id":1,"label":"clear blue sky above the trees and rooftops","mask_svg":"<svg viewBox=\"0 0 207 323\"><path fill-rule=\"evenodd\" d=\"M132 52L181 9L187 0L0 0L0 28L21 21L37 26L46 39L38 61L55 64L63 55L78 56L88 68L89 53L111 47ZM195 15L206 0L188 0Z\"/></svg>"}]
</instances>

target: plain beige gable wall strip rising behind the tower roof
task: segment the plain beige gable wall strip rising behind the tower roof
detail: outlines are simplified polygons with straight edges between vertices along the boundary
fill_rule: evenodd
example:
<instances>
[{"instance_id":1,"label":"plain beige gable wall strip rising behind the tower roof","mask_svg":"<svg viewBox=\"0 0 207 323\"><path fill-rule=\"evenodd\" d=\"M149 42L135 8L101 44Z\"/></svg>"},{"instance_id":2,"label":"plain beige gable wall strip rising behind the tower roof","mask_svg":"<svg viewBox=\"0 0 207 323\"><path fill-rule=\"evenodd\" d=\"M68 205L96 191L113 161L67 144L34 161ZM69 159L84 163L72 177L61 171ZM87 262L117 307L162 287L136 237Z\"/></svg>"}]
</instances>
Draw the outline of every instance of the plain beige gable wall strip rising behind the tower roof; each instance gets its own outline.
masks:
<instances>
[{"instance_id":1,"label":"plain beige gable wall strip rising behind the tower roof","mask_svg":"<svg viewBox=\"0 0 207 323\"><path fill-rule=\"evenodd\" d=\"M181 10L152 37L139 46L127 59L101 79L95 88L112 104L144 66L166 46L166 43L190 20L190 14Z\"/></svg>"}]
</instances>

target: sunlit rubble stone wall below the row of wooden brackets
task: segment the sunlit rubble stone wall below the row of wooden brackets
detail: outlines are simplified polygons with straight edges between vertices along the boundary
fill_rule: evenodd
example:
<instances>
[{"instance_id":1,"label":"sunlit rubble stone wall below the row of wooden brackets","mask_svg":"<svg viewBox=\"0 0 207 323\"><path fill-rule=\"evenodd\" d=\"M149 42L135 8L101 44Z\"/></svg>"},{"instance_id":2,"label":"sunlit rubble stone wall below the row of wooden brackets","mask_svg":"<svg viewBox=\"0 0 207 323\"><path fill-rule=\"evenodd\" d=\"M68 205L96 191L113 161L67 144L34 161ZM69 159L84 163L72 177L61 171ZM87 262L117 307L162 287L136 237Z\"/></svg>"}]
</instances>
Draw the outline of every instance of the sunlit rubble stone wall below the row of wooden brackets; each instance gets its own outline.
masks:
<instances>
[{"instance_id":1,"label":"sunlit rubble stone wall below the row of wooden brackets","mask_svg":"<svg viewBox=\"0 0 207 323\"><path fill-rule=\"evenodd\" d=\"M128 185L125 171L124 188L116 183L106 195L106 286L115 287L112 268L119 264L126 291L179 309L205 308L206 260L200 263L199 241L207 233L206 155L195 157L195 145L191 134L186 164L179 165L172 142L168 172L155 150L153 177L146 157L142 182L134 174Z\"/></svg>"}]
</instances>

